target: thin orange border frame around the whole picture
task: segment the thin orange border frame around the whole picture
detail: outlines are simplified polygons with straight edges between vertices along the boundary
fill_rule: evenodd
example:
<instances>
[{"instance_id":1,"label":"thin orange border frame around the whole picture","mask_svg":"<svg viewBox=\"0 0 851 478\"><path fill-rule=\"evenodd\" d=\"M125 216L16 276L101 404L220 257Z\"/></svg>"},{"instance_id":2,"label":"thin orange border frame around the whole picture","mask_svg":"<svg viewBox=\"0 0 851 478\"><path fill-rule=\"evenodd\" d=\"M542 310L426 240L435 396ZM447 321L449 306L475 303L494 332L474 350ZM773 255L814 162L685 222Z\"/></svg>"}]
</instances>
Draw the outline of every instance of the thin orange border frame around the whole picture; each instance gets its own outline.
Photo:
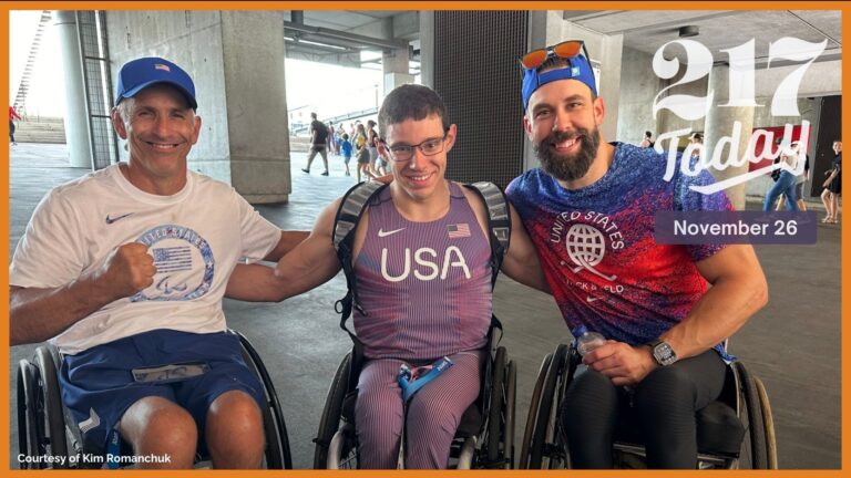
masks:
<instances>
[{"instance_id":1,"label":"thin orange border frame around the whole picture","mask_svg":"<svg viewBox=\"0 0 851 478\"><path fill-rule=\"evenodd\" d=\"M544 2L544 1L529 1L529 2L521 2L521 1L490 1L490 2L473 2L473 1L388 1L388 2L365 2L366 4L359 3L358 8L360 9L371 9L371 10L483 10L484 8L489 10L563 10L565 7L567 7L567 3L565 2ZM587 4L587 7L593 8L605 8L608 10L670 10L670 9L677 9L677 10L707 10L707 9L719 9L719 10L841 10L842 11L842 31L850 31L851 29L851 2L835 2L835 1L812 1L812 2L791 2L791 1L783 1L783 2L759 2L759 1L695 1L695 2L664 2L664 1L645 1L645 2L626 2L626 1L601 1L601 2L594 2L593 4ZM2 97L7 100L7 103L9 103L8 97L8 91L9 91L9 11L10 10L289 10L289 9L297 9L297 10L347 10L351 9L353 7L351 1L281 1L281 2L274 2L274 1L207 1L207 2L191 2L191 1L170 1L170 2L154 2L154 1L135 1L135 2L124 2L124 1L32 1L32 2L24 2L24 1L11 1L11 2L3 2L2 6L0 6L0 51L3 53L6 61L0 62L0 94L2 94ZM585 4L582 6L574 6L571 7L585 7ZM844 86L848 86L851 84L851 67L849 67L849 62L844 62L842 65L842 86L844 90ZM10 103L9 103L10 104ZM842 117L843 117L843 128L842 128L842 136L845 138L851 138L851 117L849 117L848 112L851 111L851 95L848 97L843 97L842 101ZM2 153L0 153L0 158L4 160L4 164L7 167L0 168L0 183L2 184L2 187L4 191L7 193L2 197L8 197L9 193L9 153L8 149L3 149ZM847 169L842 173L844 175L844 180L848 183L851 180L851 173ZM845 209L848 210L848 209ZM0 216L3 218L3 230L4 236L8 240L9 238L9 208L3 208L2 212L0 212ZM849 251L849 233L851 233L851 226L849 226L849 221L842 221L842 251L845 252L842 254L842 284L849 283L849 279L851 278L851 258L848 254ZM3 248L3 250L6 250ZM10 258L7 257L7 263L9 263ZM2 303L9 303L9 297L8 297L8 284L9 284L9 276L3 274L3 284L0 287L0 301ZM840 289L842 290L842 289ZM851 305L849 305L849 301L847 301L844 298L842 298L842 319L843 322L847 319L851 319L851 313L849 312L849 309ZM8 309L6 314L6 323L9 322L8 320ZM849 328L843 328L842 330L842 343L844 345L845 342L849 342L849 339L851 337L851 332L849 332ZM0 343L8 343L9 341L9 330L7 326L0 328ZM839 470L777 470L771 471L770 476L819 476L819 477L833 477L833 476L847 476L851 475L849 471L851 470L851 464L849 460L851 460L851 454L849 454L849 448L851 445L849 445L849 409L848 409L848 402L849 396L851 396L851 385L848 380L845 380L845 372L849 368L849 365L851 365L851 354L849 353L848 347L842 347L842 366L843 366L843 374L842 374L842 468ZM0 383L9 383L9 356L7 355L7 364L4 366L0 366ZM0 387L0 406L3 407L3 409L8 409L9 407L9 396L11 391L7 391L3 387ZM2 424L6 426L6 429L9 430L9 427L11 426L10 423L8 423L8 414L2 413ZM7 434L0 434L0 475L12 475L12 471L10 470L10 463L8 459L8 453L6 450L9 449L9 435ZM781 450L782 451L782 450ZM93 474L109 474L113 471L103 470L103 471L92 471ZM571 477L571 476L593 476L593 477L622 477L623 475L644 475L648 476L648 474L653 474L654 477L658 476L670 476L670 477L681 477L684 475L688 476L707 476L707 474L711 474L711 471L643 471L643 470L634 470L634 471L575 471L575 470L562 470L562 471L541 471L541 470L511 470L511 471L495 471L495 470L489 470L489 471L479 471L479 474L486 474L486 476L492 475L500 475L500 476L511 476L511 477L540 477L543 475L547 476L564 476L564 477ZM768 471L749 471L749 470L735 470L735 471L720 471L724 472L725 476L769 476L766 475ZM14 476L37 476L41 474L50 474L51 476L76 476L80 477L79 471L64 471L64 470L51 470L51 471L38 471L38 470L17 470L14 471ZM143 471L143 470L122 470L120 471L122 476L143 476L146 474L146 476L151 476L151 472ZM218 475L218 476L240 476L240 477L248 477L248 476L290 476L290 477L349 477L349 476L370 476L370 477L389 477L389 476L397 476L397 475L404 475L404 476L411 476L411 477L450 477L450 476L470 476L471 474L476 474L476 471L420 471L420 470L406 470L406 471L396 471L396 470L382 470L382 471L319 471L319 470L263 470L263 471L227 471L227 470L196 470L196 471L160 471L157 472L157 476L162 477L183 477L186 475ZM480 475L481 476L481 475Z\"/></svg>"}]
</instances>

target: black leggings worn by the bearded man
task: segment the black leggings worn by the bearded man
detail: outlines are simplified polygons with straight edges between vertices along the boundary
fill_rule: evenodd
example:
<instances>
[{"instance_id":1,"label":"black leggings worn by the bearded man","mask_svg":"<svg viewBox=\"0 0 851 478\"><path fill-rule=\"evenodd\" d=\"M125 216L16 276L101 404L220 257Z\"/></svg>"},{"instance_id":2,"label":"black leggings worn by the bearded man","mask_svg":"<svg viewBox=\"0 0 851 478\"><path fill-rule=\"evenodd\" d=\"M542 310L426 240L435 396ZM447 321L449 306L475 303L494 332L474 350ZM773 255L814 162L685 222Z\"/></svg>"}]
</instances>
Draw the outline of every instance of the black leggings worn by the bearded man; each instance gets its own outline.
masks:
<instances>
[{"instance_id":1,"label":"black leggings worn by the bearded man","mask_svg":"<svg viewBox=\"0 0 851 478\"><path fill-rule=\"evenodd\" d=\"M581 365L560 413L572 467L612 468L613 440L633 437L645 445L648 468L696 468L695 412L718 398L725 375L709 350L654 370L630 396Z\"/></svg>"}]
</instances>

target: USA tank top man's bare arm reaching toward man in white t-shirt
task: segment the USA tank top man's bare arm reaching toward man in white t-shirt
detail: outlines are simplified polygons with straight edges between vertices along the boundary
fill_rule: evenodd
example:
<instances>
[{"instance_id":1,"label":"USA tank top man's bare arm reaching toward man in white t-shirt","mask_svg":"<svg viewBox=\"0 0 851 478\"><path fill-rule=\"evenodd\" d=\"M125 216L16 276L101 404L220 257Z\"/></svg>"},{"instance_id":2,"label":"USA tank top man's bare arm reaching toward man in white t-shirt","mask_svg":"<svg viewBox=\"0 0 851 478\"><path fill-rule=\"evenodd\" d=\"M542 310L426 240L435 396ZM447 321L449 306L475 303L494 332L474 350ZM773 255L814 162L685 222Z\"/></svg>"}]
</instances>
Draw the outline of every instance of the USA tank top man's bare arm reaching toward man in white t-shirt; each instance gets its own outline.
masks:
<instances>
[{"instance_id":1,"label":"USA tank top man's bare arm reaching toward man in white t-shirt","mask_svg":"<svg viewBox=\"0 0 851 478\"><path fill-rule=\"evenodd\" d=\"M340 262L331 242L334 217L339 200L326 207L314 230L287 252L277 266L239 264L227 282L225 294L245 301L281 301L307 292L334 278Z\"/></svg>"}]
</instances>

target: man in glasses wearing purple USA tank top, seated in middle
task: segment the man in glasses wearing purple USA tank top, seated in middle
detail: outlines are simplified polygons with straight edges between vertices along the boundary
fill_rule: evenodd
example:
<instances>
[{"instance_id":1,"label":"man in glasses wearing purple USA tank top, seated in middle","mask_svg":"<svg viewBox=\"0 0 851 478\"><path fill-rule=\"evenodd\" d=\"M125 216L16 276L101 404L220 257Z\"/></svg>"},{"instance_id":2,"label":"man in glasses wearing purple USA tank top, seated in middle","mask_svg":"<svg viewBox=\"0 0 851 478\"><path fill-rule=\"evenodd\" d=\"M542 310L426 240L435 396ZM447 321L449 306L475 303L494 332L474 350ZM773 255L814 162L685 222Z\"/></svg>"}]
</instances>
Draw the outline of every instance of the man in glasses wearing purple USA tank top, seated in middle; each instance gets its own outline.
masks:
<instances>
[{"instance_id":1,"label":"man in glasses wearing purple USA tank top, seated in middle","mask_svg":"<svg viewBox=\"0 0 851 478\"><path fill-rule=\"evenodd\" d=\"M444 177L457 128L434 91L412 84L393 90L378 126L378 147L393 163L393 181L370 201L352 254L363 309L353 323L367 358L355 412L360 465L396 468L404 419L399 367L445 355L454 366L411 399L406 432L408 468L445 468L457 424L480 389L492 312L486 211L475 193ZM310 236L274 273L259 264L239 267L228 297L283 300L335 277L339 205L340 199L321 211ZM546 291L532 242L513 209L511 215L502 270Z\"/></svg>"}]
</instances>

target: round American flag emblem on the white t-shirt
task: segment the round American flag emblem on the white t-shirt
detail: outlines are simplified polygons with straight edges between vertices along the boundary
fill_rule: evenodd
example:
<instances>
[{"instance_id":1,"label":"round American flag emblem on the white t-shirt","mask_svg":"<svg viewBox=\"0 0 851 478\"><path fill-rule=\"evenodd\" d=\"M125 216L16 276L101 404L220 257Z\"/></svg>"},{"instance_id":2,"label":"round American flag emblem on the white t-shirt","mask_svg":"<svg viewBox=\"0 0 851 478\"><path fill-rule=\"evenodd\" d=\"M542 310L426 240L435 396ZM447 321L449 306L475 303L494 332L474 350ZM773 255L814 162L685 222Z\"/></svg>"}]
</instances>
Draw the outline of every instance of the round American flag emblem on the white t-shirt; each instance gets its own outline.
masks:
<instances>
[{"instance_id":1,"label":"round American flag emblem on the white t-shirt","mask_svg":"<svg viewBox=\"0 0 851 478\"><path fill-rule=\"evenodd\" d=\"M201 235L183 226L165 225L145 231L136 242L147 246L156 276L151 287L130 298L131 302L188 301L209 291L215 260Z\"/></svg>"}]
</instances>

